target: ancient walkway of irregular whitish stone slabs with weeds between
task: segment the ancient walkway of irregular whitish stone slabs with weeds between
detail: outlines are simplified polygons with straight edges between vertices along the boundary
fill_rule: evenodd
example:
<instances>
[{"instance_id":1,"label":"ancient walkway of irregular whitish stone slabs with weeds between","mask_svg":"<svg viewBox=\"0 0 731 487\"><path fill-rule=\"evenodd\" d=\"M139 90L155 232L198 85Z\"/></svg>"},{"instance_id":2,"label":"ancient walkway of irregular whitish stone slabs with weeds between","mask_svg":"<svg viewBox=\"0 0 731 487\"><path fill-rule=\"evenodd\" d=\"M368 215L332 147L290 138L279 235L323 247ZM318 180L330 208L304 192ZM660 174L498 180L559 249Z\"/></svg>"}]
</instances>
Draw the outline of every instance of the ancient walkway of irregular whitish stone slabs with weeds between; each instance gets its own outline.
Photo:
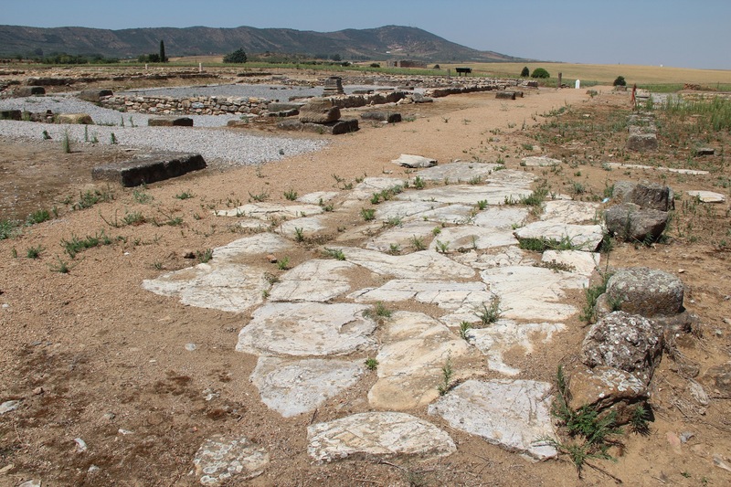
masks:
<instances>
[{"instance_id":1,"label":"ancient walkway of irregular whitish stone slabs with weeds between","mask_svg":"<svg viewBox=\"0 0 731 487\"><path fill-rule=\"evenodd\" d=\"M521 378L503 353L531 353L565 329L577 313L567 291L588 286L603 229L595 223L598 205L567 199L546 201L542 216L526 223L535 218L515 203L531 195L532 185L533 176L522 170L453 163L408 180L365 178L351 190L286 205L219 210L218 217L238 218L261 233L215 249L206 264L143 281L143 287L191 306L250 312L236 349L259 357L251 381L264 404L285 418L312 413L361 380L365 358L377 360L367 401L380 412L311 425L308 451L315 461L362 453L449 455L456 447L440 426L445 423L546 459L556 450L536 441L555 438L550 385ZM380 192L389 197L374 205ZM364 208L375 210L372 221L361 217ZM325 246L340 259L311 259L271 282L265 255L294 248L297 239L332 228L331 220L343 215L355 228ZM523 238L570 242L575 249L546 250L539 266L535 252L519 248ZM359 287L357 276L382 284ZM378 316L376 303L391 309L418 303L433 311ZM496 322L485 315L491 306ZM487 380L485 362L505 378ZM465 382L448 385L440 396L448 366L452 383ZM209 439L201 448L196 465L204 483L266 468L266 452L248 439ZM236 449L241 451L231 452ZM241 460L252 455L253 461Z\"/></svg>"}]
</instances>

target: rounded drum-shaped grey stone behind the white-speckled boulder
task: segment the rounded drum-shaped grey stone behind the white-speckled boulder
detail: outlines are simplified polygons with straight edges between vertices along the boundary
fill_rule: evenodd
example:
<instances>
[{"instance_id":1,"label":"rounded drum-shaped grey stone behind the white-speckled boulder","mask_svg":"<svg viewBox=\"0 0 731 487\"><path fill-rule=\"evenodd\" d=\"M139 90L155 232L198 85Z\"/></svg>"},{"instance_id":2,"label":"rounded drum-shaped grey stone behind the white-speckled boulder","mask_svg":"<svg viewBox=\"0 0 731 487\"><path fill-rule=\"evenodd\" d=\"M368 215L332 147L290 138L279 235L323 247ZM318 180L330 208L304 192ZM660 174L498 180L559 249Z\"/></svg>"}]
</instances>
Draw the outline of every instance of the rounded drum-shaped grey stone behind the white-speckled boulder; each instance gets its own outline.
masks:
<instances>
[{"instance_id":1,"label":"rounded drum-shaped grey stone behind the white-speckled boulder","mask_svg":"<svg viewBox=\"0 0 731 487\"><path fill-rule=\"evenodd\" d=\"M607 299L623 312L652 317L684 311L683 281L669 272L646 267L617 270L607 281Z\"/></svg>"}]
</instances>

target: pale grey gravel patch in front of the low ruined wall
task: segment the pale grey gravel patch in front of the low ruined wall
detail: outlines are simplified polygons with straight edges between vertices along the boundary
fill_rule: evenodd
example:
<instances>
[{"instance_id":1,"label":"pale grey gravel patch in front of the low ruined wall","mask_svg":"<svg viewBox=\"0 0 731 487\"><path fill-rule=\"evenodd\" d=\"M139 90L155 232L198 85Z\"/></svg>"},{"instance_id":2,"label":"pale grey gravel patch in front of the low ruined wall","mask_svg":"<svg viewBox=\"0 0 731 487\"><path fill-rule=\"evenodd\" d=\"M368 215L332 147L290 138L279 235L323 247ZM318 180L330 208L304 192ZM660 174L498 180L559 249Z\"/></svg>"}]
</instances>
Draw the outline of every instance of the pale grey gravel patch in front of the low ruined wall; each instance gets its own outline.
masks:
<instances>
[{"instance_id":1,"label":"pale grey gravel patch in front of the low ruined wall","mask_svg":"<svg viewBox=\"0 0 731 487\"><path fill-rule=\"evenodd\" d=\"M208 164L217 166L278 161L294 154L320 150L326 144L325 141L262 136L220 128L229 120L238 119L238 115L186 115L194 121L192 128L148 127L149 115L103 109L71 96L5 99L0 100L0 110L89 113L96 123L85 126L0 121L0 135L5 137L42 140L43 131L46 131L53 140L60 141L68 132L72 144L91 143L95 138L98 143L110 144L113 133L122 146L198 153Z\"/></svg>"}]
</instances>

